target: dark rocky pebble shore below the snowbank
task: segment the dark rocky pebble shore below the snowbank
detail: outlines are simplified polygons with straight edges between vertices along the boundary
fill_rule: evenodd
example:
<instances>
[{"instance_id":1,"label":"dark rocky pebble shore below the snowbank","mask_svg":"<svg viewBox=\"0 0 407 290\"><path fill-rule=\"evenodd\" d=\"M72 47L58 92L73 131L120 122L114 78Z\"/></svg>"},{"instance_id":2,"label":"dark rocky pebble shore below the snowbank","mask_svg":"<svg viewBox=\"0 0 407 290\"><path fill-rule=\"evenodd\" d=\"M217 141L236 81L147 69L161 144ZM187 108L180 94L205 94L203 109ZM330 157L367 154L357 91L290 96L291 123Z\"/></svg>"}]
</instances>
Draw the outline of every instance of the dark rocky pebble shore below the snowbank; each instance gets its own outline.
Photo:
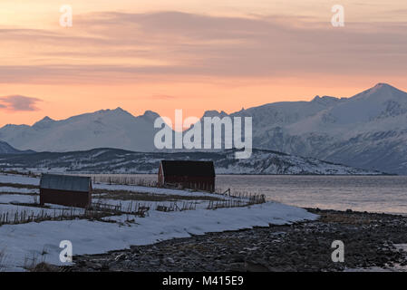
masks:
<instances>
[{"instance_id":1,"label":"dark rocky pebble shore below the snowbank","mask_svg":"<svg viewBox=\"0 0 407 290\"><path fill-rule=\"evenodd\" d=\"M69 271L344 271L406 269L407 217L307 208L316 221L208 233L102 255L74 256ZM334 240L344 262L334 263Z\"/></svg>"}]
</instances>

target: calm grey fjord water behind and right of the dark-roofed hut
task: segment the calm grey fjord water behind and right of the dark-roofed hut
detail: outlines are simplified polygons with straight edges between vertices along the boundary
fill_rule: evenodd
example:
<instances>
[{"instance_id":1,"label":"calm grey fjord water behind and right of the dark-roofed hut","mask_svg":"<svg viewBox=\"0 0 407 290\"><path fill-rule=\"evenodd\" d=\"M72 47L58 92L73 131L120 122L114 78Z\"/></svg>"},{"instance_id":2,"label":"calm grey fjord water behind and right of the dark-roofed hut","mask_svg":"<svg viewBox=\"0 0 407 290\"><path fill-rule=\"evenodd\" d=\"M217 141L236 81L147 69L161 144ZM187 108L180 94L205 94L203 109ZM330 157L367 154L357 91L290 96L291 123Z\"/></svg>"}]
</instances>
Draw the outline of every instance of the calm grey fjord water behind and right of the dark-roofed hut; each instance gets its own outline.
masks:
<instances>
[{"instance_id":1,"label":"calm grey fjord water behind and right of the dark-roofed hut","mask_svg":"<svg viewBox=\"0 0 407 290\"><path fill-rule=\"evenodd\" d=\"M136 175L156 180L155 175ZM219 175L218 189L263 193L269 200L310 208L407 215L407 176Z\"/></svg>"}]
</instances>

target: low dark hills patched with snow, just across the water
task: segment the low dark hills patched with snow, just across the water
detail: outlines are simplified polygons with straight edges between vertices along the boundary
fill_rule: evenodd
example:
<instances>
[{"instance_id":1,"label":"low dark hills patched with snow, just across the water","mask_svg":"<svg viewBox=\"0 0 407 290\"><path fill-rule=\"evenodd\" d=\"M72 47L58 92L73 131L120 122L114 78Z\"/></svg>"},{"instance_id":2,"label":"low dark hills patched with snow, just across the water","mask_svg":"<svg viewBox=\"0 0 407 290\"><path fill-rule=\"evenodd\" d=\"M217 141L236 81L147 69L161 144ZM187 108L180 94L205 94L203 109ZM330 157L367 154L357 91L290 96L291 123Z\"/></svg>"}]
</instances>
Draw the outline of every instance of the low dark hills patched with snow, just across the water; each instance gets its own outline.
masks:
<instances>
[{"instance_id":1,"label":"low dark hills patched with snow, just across the water","mask_svg":"<svg viewBox=\"0 0 407 290\"><path fill-rule=\"evenodd\" d=\"M217 174L381 174L378 171L354 169L271 150L253 150L252 157L247 160L235 159L235 150L146 153L95 149L63 153L40 152L2 156L0 169L34 172L157 173L160 160L213 160Z\"/></svg>"}]
</instances>

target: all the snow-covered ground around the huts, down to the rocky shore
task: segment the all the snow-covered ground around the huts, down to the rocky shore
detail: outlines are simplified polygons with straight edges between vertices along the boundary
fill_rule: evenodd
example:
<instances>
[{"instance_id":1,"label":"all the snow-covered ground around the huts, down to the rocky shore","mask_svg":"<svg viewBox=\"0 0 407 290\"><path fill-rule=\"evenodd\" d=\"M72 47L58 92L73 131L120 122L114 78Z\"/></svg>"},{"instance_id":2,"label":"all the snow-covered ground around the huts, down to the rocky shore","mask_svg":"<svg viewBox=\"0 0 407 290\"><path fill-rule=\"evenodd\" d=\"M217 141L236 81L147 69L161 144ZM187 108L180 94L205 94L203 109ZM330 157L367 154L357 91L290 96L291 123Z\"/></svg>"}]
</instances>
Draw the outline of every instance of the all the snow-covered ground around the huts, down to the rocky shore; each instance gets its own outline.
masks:
<instances>
[{"instance_id":1,"label":"all the snow-covered ground around the huts, down to the rocky shore","mask_svg":"<svg viewBox=\"0 0 407 290\"><path fill-rule=\"evenodd\" d=\"M11 180L14 182L11 182ZM38 179L11 175L0 176L0 181L5 183L21 182L21 184L30 185L38 184ZM209 210L206 209L208 200L199 200L199 197L209 194L202 192L102 184L96 184L94 188L129 190L134 191L133 195L137 195L137 192L160 195L184 195L189 197L196 195L197 200L194 201L199 202L199 206L195 210L162 212L155 210L155 206L157 204L167 204L170 201L151 201L150 204L154 206L146 218L120 215L103 218L99 221L88 219L48 220L39 223L3 225L0 226L0 250L5 252L4 270L24 271L25 261L32 259L34 256L37 258L37 262L41 262L44 259L47 263L61 265L59 255L63 249L59 245L63 240L72 242L73 255L98 254L110 250L128 248L131 245L148 245L175 237L189 237L190 235L203 235L208 232L250 227L266 227L269 224L283 225L317 218L316 215L307 212L303 208L286 206L276 202L266 202L242 208ZM137 202L137 200L129 201L110 198L101 198L101 200L108 204L121 203L124 208L130 202ZM35 212L46 210L54 213L58 210L62 211L64 208L60 206L53 206L53 208L49 209L15 206L10 204L10 202L32 203L33 196L26 194L0 194L0 214L2 211L15 212L15 210L33 210ZM135 222L128 222L128 219L133 218L135 218Z\"/></svg>"}]
</instances>

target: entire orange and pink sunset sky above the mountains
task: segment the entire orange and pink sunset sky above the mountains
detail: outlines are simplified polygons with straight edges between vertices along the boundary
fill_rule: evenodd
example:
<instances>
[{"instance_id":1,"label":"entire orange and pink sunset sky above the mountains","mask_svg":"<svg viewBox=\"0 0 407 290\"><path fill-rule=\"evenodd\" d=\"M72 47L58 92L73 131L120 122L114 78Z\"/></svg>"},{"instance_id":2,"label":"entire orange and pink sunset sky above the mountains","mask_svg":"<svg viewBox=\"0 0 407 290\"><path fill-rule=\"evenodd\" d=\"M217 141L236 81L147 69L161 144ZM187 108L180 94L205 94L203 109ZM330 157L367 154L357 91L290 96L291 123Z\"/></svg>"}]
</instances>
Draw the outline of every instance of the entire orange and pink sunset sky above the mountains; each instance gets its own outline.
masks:
<instances>
[{"instance_id":1,"label":"entire orange and pink sunset sky above the mountains","mask_svg":"<svg viewBox=\"0 0 407 290\"><path fill-rule=\"evenodd\" d=\"M117 107L200 117L377 82L407 91L407 2L2 0L0 58L0 126Z\"/></svg>"}]
</instances>

